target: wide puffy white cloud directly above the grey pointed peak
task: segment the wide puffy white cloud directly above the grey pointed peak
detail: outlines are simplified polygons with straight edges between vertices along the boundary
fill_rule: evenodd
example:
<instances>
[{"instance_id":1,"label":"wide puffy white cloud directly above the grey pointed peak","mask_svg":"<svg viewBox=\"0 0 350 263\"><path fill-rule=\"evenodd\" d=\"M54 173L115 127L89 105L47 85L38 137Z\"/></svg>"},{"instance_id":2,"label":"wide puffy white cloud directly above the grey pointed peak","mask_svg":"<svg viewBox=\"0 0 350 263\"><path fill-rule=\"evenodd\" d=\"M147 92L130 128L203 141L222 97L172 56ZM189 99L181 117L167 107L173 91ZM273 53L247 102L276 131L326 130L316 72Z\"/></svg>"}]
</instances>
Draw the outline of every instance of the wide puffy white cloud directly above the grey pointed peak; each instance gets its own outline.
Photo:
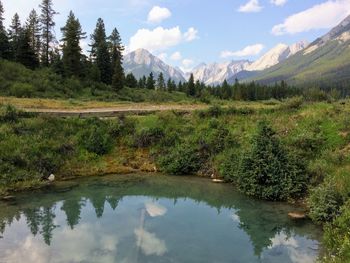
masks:
<instances>
[{"instance_id":1,"label":"wide puffy white cloud directly above the grey pointed peak","mask_svg":"<svg viewBox=\"0 0 350 263\"><path fill-rule=\"evenodd\" d=\"M130 51L139 48L147 49L150 52L164 50L185 41L192 41L196 38L196 34L197 30L192 27L186 33L182 33L178 26L168 29L157 27L153 30L142 28L130 38L128 48Z\"/></svg>"}]
</instances>

